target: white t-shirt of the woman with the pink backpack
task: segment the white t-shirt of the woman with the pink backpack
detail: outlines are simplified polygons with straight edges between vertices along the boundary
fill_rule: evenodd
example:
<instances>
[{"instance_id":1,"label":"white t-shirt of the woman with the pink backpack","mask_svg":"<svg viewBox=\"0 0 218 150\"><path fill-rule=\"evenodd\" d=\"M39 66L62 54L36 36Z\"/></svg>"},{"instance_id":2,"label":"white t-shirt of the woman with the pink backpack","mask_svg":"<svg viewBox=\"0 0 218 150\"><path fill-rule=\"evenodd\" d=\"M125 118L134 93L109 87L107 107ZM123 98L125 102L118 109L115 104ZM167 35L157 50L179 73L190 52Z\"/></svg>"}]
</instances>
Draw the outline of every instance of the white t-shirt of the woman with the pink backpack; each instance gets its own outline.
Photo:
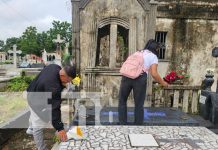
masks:
<instances>
[{"instance_id":1,"label":"white t-shirt of the woman with the pink backpack","mask_svg":"<svg viewBox=\"0 0 218 150\"><path fill-rule=\"evenodd\" d=\"M143 57L144 57L144 67L148 70L150 69L151 65L158 64L157 56L148 50L144 50ZM148 71L146 72L148 73Z\"/></svg>"}]
</instances>

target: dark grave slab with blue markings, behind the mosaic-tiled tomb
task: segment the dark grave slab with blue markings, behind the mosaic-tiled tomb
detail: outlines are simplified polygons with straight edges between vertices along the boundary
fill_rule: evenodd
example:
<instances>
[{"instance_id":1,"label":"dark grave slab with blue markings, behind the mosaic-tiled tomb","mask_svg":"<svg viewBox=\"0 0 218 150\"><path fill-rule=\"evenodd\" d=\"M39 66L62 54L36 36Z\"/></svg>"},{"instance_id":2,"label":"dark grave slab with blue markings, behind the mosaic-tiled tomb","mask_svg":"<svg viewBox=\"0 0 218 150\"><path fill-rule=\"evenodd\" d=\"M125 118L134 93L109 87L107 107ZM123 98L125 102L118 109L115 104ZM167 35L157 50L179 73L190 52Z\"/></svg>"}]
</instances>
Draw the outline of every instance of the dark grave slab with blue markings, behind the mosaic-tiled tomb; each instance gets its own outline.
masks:
<instances>
[{"instance_id":1,"label":"dark grave slab with blue markings, behind the mosaic-tiled tomb","mask_svg":"<svg viewBox=\"0 0 218 150\"><path fill-rule=\"evenodd\" d=\"M119 125L118 108L105 107L100 111L100 120L95 120L95 108L86 108L86 122L82 125ZM128 125L134 125L134 108L127 109ZM83 112L82 112L83 113ZM110 115L109 115L110 114ZM71 125L78 125L78 113L74 117ZM81 125L81 124L80 124ZM186 113L172 108L144 108L144 123L143 125L158 125L158 126L198 126L198 121Z\"/></svg>"}]
</instances>

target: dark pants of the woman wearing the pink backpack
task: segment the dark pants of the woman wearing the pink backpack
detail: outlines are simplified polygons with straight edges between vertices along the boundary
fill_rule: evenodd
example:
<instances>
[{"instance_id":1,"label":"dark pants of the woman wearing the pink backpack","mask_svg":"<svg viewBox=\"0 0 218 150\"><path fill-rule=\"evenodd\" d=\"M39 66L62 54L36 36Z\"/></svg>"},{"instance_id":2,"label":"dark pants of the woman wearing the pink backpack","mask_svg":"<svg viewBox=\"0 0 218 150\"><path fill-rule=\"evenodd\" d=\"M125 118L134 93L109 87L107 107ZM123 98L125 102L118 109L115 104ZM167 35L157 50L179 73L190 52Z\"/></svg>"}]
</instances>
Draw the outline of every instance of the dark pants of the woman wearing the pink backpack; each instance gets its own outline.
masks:
<instances>
[{"instance_id":1,"label":"dark pants of the woman wearing the pink backpack","mask_svg":"<svg viewBox=\"0 0 218 150\"><path fill-rule=\"evenodd\" d=\"M142 125L144 120L144 100L147 86L147 73L136 79L122 77L119 93L119 121L121 125L127 124L127 99L133 89L135 103L135 125Z\"/></svg>"}]
</instances>

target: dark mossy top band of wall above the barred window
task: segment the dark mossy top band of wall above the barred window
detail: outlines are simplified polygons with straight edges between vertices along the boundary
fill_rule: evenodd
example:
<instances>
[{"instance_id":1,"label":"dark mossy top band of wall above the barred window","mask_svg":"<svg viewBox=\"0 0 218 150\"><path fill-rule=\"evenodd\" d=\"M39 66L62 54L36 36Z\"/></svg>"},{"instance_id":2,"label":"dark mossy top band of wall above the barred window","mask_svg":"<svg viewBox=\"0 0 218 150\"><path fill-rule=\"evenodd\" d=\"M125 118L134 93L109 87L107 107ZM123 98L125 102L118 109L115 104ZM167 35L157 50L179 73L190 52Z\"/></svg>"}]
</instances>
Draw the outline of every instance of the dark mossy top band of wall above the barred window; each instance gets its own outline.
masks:
<instances>
[{"instance_id":1,"label":"dark mossy top band of wall above the barred window","mask_svg":"<svg viewBox=\"0 0 218 150\"><path fill-rule=\"evenodd\" d=\"M157 0L158 17L218 19L217 0Z\"/></svg>"}]
</instances>

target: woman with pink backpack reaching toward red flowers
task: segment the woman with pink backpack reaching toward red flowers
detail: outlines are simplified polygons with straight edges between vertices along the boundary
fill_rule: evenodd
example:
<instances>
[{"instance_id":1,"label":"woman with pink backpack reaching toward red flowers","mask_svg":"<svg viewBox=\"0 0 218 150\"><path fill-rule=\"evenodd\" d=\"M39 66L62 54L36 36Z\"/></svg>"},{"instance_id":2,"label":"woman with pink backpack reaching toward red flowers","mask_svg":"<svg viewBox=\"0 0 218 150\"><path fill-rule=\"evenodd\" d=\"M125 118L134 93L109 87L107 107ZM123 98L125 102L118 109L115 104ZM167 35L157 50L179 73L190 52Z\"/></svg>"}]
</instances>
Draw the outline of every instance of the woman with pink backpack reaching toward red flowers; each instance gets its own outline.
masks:
<instances>
[{"instance_id":1,"label":"woman with pink backpack reaching toward red flowers","mask_svg":"<svg viewBox=\"0 0 218 150\"><path fill-rule=\"evenodd\" d=\"M157 71L158 49L159 44L155 40L150 39L145 45L144 50L130 55L120 69L122 79L119 91L118 112L121 125L127 125L127 99L131 90L133 90L135 103L134 124L143 124L148 73L162 86L168 86L168 83L160 77Z\"/></svg>"}]
</instances>

